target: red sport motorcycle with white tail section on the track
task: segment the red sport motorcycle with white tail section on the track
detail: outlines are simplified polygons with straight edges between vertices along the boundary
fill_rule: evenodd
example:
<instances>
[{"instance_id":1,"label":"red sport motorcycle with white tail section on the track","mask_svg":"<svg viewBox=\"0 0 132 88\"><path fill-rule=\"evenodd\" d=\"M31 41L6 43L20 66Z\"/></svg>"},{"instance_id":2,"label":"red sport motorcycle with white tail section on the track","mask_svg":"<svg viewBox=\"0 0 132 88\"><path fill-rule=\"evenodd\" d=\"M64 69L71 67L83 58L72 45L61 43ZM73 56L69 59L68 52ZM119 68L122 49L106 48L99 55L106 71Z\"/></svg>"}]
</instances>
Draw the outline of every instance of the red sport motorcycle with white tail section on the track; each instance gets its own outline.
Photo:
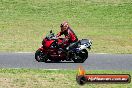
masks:
<instances>
[{"instance_id":1,"label":"red sport motorcycle with white tail section on the track","mask_svg":"<svg viewBox=\"0 0 132 88\"><path fill-rule=\"evenodd\" d=\"M35 59L38 62L65 60L83 63L88 58L87 48L91 49L91 45L92 42L88 39L69 44L65 42L65 38L57 38L51 30L50 34L43 39L42 46L36 51Z\"/></svg>"}]
</instances>

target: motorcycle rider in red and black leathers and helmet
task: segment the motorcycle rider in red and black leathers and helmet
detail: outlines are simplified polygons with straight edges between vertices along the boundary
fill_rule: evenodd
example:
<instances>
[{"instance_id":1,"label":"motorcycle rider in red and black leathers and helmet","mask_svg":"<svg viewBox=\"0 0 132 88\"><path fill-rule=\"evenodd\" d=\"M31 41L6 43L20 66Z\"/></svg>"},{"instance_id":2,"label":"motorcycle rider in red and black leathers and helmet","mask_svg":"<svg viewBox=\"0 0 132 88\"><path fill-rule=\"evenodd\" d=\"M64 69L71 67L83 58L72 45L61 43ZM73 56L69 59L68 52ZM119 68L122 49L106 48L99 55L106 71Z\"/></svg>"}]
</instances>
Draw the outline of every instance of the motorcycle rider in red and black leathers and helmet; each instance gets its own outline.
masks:
<instances>
[{"instance_id":1,"label":"motorcycle rider in red and black leathers and helmet","mask_svg":"<svg viewBox=\"0 0 132 88\"><path fill-rule=\"evenodd\" d=\"M70 28L68 22L64 21L63 23L61 23L60 28L61 31L57 34L57 37L63 34L65 35L65 42L70 43L70 45L67 45L68 47L66 48L67 50L69 50L70 47L73 47L75 45L75 42L78 41L78 38Z\"/></svg>"}]
</instances>

